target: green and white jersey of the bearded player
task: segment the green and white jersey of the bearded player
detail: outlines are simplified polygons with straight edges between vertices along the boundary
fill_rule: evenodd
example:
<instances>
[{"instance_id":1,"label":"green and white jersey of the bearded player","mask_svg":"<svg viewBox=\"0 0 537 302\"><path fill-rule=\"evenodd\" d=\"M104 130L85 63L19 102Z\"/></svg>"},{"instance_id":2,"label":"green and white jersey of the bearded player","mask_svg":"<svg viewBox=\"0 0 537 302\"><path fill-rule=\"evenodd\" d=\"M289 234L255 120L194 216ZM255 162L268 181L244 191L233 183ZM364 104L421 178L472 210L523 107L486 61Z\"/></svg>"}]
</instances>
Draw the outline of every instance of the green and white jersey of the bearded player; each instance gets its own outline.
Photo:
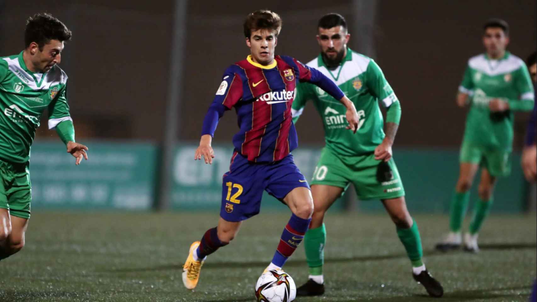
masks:
<instances>
[{"instance_id":1,"label":"green and white jersey of the bearded player","mask_svg":"<svg viewBox=\"0 0 537 302\"><path fill-rule=\"evenodd\" d=\"M326 146L342 156L374 152L384 138L379 100L386 107L398 101L379 65L372 58L350 48L335 70L326 68L321 55L307 65L332 79L354 103L360 118L358 131L353 134L345 129L349 124L345 117L346 108L339 100L309 83L297 85L292 105L293 121L298 119L306 102L311 100L322 117Z\"/></svg>"}]
</instances>

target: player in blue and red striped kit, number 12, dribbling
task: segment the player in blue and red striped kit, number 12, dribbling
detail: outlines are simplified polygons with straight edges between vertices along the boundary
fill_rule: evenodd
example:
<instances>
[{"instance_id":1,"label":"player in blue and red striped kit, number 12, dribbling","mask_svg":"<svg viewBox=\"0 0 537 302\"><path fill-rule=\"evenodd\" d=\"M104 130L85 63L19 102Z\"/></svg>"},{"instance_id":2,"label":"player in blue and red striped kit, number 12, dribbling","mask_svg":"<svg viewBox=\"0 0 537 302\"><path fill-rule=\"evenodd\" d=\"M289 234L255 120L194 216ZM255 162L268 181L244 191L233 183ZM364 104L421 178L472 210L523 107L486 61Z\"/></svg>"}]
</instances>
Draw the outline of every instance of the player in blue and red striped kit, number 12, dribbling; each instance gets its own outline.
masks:
<instances>
[{"instance_id":1,"label":"player in blue and red striped kit, number 12, dribbling","mask_svg":"<svg viewBox=\"0 0 537 302\"><path fill-rule=\"evenodd\" d=\"M218 225L194 242L183 267L187 289L198 284L207 255L229 244L243 220L259 213L263 190L292 211L269 269L281 269L300 245L313 213L308 182L293 162L297 136L291 104L297 82L313 83L345 107L347 129L356 131L358 114L352 102L330 79L292 57L274 56L281 19L268 10L252 12L244 21L246 45L251 55L231 65L222 76L213 103L205 116L195 158L211 164L211 142L219 119L235 107L240 130L233 137L235 152L222 183Z\"/></svg>"}]
</instances>

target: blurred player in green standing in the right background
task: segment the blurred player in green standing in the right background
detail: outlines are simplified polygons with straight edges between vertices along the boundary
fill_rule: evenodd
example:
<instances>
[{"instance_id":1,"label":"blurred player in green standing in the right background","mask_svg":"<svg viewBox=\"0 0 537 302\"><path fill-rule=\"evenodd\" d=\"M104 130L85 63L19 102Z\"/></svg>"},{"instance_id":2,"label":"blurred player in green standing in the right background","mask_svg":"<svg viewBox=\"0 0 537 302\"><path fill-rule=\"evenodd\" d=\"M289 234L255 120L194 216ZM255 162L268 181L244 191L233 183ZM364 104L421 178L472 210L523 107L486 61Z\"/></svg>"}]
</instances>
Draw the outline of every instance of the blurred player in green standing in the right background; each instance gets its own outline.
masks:
<instances>
[{"instance_id":1,"label":"blurred player in green standing in the right background","mask_svg":"<svg viewBox=\"0 0 537 302\"><path fill-rule=\"evenodd\" d=\"M506 51L509 25L491 19L484 25L486 52L468 61L456 102L470 106L460 151L460 174L449 210L449 233L437 244L447 251L459 248L477 252L477 233L492 205L492 191L499 176L510 174L513 143L513 112L531 111L533 86L524 61ZM479 199L468 233L462 242L461 225L474 176L481 167Z\"/></svg>"}]
</instances>

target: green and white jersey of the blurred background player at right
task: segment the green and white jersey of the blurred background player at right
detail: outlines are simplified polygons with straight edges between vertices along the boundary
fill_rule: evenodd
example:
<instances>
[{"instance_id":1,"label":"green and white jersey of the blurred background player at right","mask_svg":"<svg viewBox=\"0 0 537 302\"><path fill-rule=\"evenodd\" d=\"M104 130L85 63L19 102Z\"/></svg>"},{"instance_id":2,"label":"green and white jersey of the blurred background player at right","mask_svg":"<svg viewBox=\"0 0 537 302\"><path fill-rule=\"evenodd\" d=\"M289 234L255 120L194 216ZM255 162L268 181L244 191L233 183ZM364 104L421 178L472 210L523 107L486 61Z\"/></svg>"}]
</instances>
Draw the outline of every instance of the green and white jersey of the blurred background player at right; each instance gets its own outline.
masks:
<instances>
[{"instance_id":1,"label":"green and white jersey of the blurred background player at right","mask_svg":"<svg viewBox=\"0 0 537 302\"><path fill-rule=\"evenodd\" d=\"M471 57L459 91L470 96L464 140L488 148L511 150L513 111L533 109L533 85L524 61L505 52L491 60L487 54ZM509 102L510 110L494 113L489 102L499 98Z\"/></svg>"}]
</instances>

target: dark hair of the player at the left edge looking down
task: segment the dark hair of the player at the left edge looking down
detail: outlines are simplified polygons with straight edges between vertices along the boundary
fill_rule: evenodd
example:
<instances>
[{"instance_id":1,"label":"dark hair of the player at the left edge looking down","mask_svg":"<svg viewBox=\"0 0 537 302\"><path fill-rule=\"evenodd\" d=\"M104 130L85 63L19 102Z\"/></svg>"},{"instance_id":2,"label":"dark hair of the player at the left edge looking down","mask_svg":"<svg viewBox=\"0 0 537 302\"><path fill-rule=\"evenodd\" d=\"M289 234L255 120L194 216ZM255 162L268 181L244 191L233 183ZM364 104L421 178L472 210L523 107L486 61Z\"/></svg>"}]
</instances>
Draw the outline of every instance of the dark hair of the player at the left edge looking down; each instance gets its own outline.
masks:
<instances>
[{"instance_id":1,"label":"dark hair of the player at the left edge looking down","mask_svg":"<svg viewBox=\"0 0 537 302\"><path fill-rule=\"evenodd\" d=\"M71 31L62 21L52 17L49 13L36 13L26 20L26 29L24 30L25 48L32 42L39 45L39 50L50 40L69 41L71 40Z\"/></svg>"}]
</instances>

